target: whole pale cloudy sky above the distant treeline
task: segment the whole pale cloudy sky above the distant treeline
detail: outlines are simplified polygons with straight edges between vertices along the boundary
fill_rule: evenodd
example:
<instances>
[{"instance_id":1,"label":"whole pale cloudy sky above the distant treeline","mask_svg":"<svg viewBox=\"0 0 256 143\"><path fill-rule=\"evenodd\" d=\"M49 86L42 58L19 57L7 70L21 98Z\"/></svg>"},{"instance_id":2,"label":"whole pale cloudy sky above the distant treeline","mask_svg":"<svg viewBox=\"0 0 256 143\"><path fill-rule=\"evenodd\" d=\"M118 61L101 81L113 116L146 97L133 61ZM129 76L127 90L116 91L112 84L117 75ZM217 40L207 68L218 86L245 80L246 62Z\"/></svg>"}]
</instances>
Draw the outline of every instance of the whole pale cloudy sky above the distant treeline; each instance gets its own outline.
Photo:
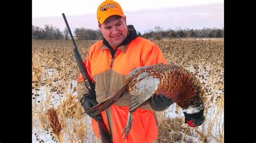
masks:
<instances>
[{"instance_id":1,"label":"whole pale cloudy sky above the distant treeline","mask_svg":"<svg viewBox=\"0 0 256 143\"><path fill-rule=\"evenodd\" d=\"M98 29L97 7L103 1L89 0L32 0L32 25L44 28L49 24L63 31L68 20L71 31L85 27ZM137 32L145 33L160 26L171 28L223 28L224 0L119 0L127 25L132 24Z\"/></svg>"}]
</instances>

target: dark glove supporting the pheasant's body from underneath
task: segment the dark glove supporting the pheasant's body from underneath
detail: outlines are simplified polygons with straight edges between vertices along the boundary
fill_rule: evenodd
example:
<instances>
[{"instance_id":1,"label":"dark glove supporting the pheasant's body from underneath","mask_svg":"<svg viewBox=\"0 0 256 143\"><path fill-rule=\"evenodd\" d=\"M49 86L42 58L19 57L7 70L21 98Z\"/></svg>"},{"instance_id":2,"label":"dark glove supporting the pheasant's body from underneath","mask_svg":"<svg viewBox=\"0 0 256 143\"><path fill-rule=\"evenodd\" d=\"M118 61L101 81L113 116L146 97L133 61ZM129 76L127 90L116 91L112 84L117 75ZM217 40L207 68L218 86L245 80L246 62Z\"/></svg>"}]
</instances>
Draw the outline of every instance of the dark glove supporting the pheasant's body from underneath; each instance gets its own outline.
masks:
<instances>
[{"instance_id":1,"label":"dark glove supporting the pheasant's body from underneath","mask_svg":"<svg viewBox=\"0 0 256 143\"><path fill-rule=\"evenodd\" d=\"M153 95L150 99L150 105L154 110L161 111L172 105L172 101L162 95Z\"/></svg>"}]
</instances>

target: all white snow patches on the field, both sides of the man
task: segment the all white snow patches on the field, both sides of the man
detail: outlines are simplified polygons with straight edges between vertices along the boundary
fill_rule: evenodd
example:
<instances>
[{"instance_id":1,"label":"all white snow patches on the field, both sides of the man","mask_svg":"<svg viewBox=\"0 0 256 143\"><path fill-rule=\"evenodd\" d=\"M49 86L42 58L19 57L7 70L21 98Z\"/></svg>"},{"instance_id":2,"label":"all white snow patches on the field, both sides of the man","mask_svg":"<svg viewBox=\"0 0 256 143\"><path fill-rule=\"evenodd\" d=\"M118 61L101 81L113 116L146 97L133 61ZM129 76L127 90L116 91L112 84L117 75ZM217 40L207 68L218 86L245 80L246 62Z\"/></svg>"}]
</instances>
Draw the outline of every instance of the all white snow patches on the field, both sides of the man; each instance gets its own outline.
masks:
<instances>
[{"instance_id":1,"label":"all white snow patches on the field, both sides of the man","mask_svg":"<svg viewBox=\"0 0 256 143\"><path fill-rule=\"evenodd\" d=\"M193 71L193 67L190 67L190 71ZM54 77L53 75L57 74L56 72L57 72L56 69L46 69L46 70L44 70L42 80L49 80L49 79L53 78ZM207 80L208 73L207 73L207 71L204 71L204 72L205 72L205 75L206 75L205 80ZM223 72L223 74L224 74L224 72ZM59 81L55 81L55 82L52 81L52 85L57 86L58 82ZM72 80L72 79L69 78L68 80L66 80L66 82L68 83L68 85L67 85L68 88L66 88L66 91L65 91L66 94L72 94L72 96L76 96L77 92L72 93L73 89L76 87L76 80ZM209 88L212 88L212 86L209 87ZM35 97L35 99L32 100L32 104L34 105L33 110L36 110L36 111L33 111L33 113L39 113L39 112L41 112L41 111L39 111L39 109L45 110L45 108L46 108L45 105L43 105L43 108L36 108L36 105L38 105L36 103L38 103L38 101L40 101L41 103L44 103L47 100L50 100L51 106L53 106L55 109L58 108L58 106L60 105L60 102L65 101L66 97L65 97L64 94L61 94L61 93L57 94L57 91L55 91L55 92L50 92L50 91L51 91L51 87L48 86L48 85L43 85L42 87L39 87L38 90L32 89L32 92L34 93L32 95L32 97ZM219 90L217 92L217 95L221 94L222 92L223 92L222 90ZM35 96L35 95L39 95L39 96ZM215 104L215 103L212 103L212 105L213 104ZM39 104L39 105L42 105L42 104ZM182 109L179 108L179 112L177 114L175 112L176 108L177 108L176 103L173 103L169 107L169 109L165 110L164 112L165 112L166 117L168 117L168 118L184 117ZM213 125L212 131L208 131L208 132L212 133L213 137L216 137L218 134L220 134L218 131L223 131L224 130L224 128L223 128L224 111L220 111L221 116L215 117L215 113L217 111L219 111L217 106L210 106L210 108L208 108L208 112L207 112L207 115L206 115L206 120L205 120L206 123L204 123L204 124L207 124L207 122L210 121L210 120L212 121L213 117L214 117L214 123L215 124ZM33 116L36 117L36 115L33 115ZM84 117L84 124L91 124L91 120L88 116ZM89 126L89 127L90 128L87 129L87 132L92 131L91 126ZM199 126L199 129L200 130L202 129L201 126ZM38 119L38 117L36 117L35 120L33 120L32 142L39 142L41 140L43 140L44 142L56 142L57 139L52 139L50 130L51 130L50 128L48 129L48 131L44 130L42 125L41 125L41 122ZM207 128L205 130L207 130ZM70 126L70 131L72 131L71 126ZM64 137L64 138L67 138L67 137ZM89 138L89 140L94 140L95 136L92 135L92 133L88 133L87 138ZM193 140L197 140L196 137L191 137L191 138L193 138ZM69 139L66 139L66 140L69 140ZM216 141L217 140L215 140L214 138L210 139L210 142L216 142Z\"/></svg>"}]
</instances>

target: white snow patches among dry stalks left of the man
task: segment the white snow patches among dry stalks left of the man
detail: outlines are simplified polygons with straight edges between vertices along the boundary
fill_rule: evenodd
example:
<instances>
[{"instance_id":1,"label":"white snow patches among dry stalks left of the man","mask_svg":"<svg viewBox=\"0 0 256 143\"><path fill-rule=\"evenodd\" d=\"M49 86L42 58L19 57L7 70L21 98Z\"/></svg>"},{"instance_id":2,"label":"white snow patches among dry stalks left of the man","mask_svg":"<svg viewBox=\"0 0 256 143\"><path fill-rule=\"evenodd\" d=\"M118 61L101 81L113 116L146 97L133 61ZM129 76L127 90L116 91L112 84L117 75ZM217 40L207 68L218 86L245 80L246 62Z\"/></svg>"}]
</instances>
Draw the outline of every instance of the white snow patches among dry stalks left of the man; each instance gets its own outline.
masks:
<instances>
[{"instance_id":1,"label":"white snow patches among dry stalks left of the man","mask_svg":"<svg viewBox=\"0 0 256 143\"><path fill-rule=\"evenodd\" d=\"M43 75L42 75L42 81L44 80L52 80L54 79L54 75L57 75L58 71L56 69L44 69L43 70ZM60 81L52 81L53 87L57 87ZM76 80L71 80L70 78L66 80L68 83L66 88L66 94L72 96L76 96L77 92L73 92L73 89L76 87ZM71 86L72 85L72 86ZM57 142L57 139L52 138L51 136L51 128L48 128L48 130L45 130L44 127L41 124L41 121L39 120L39 117L37 116L38 113L41 113L40 110L45 111L46 105L45 104L40 104L40 103L45 103L46 101L50 100L50 106L53 106L54 109L57 109L58 106L61 104L61 102L65 101L66 97L64 94L59 93L57 91L50 92L52 89L51 86L48 85L43 85L42 87L37 88L37 90L32 89L32 97L35 97L35 99L32 100L32 106L33 106L33 117L35 117L33 121L33 126L32 126L32 142L40 142L43 140L44 142ZM39 101L39 102L38 102ZM77 99L76 99L77 102ZM48 105L49 106L49 105ZM49 108L49 107L48 107ZM69 119L66 120L69 122ZM87 116L84 117L84 124L90 124L91 119ZM72 126L69 127L70 131L73 130ZM91 131L92 129L89 128L88 131ZM90 134L89 134L90 135ZM88 137L88 136L87 136ZM63 137L64 141L69 140L65 139L67 137ZM89 139L92 139L93 137L89 137Z\"/></svg>"}]
</instances>

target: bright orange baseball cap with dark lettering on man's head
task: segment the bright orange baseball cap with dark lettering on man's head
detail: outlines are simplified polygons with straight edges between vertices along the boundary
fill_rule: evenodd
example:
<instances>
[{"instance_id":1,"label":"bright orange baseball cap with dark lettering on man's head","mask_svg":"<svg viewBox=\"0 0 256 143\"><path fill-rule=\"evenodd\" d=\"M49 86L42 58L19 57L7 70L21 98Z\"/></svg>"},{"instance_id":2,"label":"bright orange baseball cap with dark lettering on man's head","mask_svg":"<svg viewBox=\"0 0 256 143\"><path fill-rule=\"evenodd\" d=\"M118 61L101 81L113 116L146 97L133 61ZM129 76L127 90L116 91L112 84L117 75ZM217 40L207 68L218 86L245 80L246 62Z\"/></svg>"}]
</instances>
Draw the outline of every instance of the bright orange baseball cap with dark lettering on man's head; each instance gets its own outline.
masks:
<instances>
[{"instance_id":1,"label":"bright orange baseball cap with dark lettering on man's head","mask_svg":"<svg viewBox=\"0 0 256 143\"><path fill-rule=\"evenodd\" d=\"M124 12L117 2L113 0L106 0L98 6L97 19L100 24L103 24L107 18L113 15L118 15L125 18Z\"/></svg>"}]
</instances>

